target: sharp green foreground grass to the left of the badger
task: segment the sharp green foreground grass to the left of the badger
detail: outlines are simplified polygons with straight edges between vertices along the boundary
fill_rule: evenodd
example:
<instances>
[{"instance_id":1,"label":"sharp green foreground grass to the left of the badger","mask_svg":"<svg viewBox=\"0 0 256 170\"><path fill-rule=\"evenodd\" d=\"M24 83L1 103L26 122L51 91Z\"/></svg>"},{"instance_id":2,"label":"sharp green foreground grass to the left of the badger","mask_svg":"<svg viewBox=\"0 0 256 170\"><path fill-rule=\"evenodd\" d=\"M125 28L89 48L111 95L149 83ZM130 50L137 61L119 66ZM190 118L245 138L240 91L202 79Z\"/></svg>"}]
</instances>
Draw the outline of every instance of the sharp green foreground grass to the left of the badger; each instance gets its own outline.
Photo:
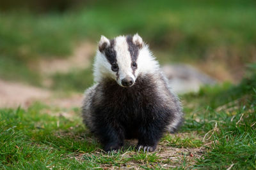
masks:
<instances>
[{"instance_id":1,"label":"sharp green foreground grass to the left of the badger","mask_svg":"<svg viewBox=\"0 0 256 170\"><path fill-rule=\"evenodd\" d=\"M92 152L97 143L84 140L88 136L83 125L77 125L78 120L52 117L40 113L42 109L35 104L28 111L1 110L0 167L83 168L86 164L79 164L68 155Z\"/></svg>"}]
</instances>

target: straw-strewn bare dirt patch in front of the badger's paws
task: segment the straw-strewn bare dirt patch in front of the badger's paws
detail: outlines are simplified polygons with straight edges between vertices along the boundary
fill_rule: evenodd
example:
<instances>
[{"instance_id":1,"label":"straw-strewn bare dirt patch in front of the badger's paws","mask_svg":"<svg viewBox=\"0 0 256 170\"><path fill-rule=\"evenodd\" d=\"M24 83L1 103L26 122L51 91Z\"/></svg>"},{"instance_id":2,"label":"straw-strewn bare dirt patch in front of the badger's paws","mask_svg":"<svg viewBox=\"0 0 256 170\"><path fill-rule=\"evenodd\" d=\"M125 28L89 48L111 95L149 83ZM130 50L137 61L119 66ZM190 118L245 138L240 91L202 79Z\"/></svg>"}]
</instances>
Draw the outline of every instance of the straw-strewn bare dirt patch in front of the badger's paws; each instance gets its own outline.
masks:
<instances>
[{"instance_id":1,"label":"straw-strewn bare dirt patch in front of the badger's paws","mask_svg":"<svg viewBox=\"0 0 256 170\"><path fill-rule=\"evenodd\" d=\"M194 133L180 133L179 136L180 138L186 138L187 136L194 136ZM135 147L137 142L137 140L125 140L124 150L129 147ZM159 169L177 167L187 169L195 164L196 159L202 158L204 153L204 146L198 148L176 148L166 146L166 141L163 141L159 143L155 152L147 153L146 155L139 154L135 149L122 153L105 153L99 148L92 153L72 153L68 157L72 157L79 162L90 160L99 164L99 167L95 168L102 169L156 169L156 167ZM105 160L109 161L105 162Z\"/></svg>"}]
</instances>

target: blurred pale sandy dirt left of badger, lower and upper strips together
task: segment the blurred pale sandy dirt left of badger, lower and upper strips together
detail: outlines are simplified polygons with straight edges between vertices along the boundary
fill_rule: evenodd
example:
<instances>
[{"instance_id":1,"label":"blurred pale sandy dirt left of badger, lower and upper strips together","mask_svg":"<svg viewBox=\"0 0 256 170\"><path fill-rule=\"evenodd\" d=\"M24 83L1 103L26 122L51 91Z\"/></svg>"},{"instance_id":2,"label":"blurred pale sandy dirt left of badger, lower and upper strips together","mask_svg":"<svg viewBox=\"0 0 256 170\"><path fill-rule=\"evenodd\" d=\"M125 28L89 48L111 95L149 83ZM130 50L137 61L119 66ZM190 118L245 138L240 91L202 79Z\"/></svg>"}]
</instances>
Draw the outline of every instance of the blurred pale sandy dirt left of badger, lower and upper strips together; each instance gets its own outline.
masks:
<instances>
[{"instance_id":1,"label":"blurred pale sandy dirt left of badger, lower and upper strips together","mask_svg":"<svg viewBox=\"0 0 256 170\"><path fill-rule=\"evenodd\" d=\"M43 85L51 87L49 75L60 72L67 73L72 69L84 69L90 66L90 60L95 53L96 45L90 42L80 43L70 57L65 59L44 59L39 61L40 73ZM50 106L60 108L80 107L83 94L75 94L70 97L55 97L51 90L33 87L19 82L0 80L0 107L15 108L22 106L27 108L35 101L42 101Z\"/></svg>"}]
</instances>

